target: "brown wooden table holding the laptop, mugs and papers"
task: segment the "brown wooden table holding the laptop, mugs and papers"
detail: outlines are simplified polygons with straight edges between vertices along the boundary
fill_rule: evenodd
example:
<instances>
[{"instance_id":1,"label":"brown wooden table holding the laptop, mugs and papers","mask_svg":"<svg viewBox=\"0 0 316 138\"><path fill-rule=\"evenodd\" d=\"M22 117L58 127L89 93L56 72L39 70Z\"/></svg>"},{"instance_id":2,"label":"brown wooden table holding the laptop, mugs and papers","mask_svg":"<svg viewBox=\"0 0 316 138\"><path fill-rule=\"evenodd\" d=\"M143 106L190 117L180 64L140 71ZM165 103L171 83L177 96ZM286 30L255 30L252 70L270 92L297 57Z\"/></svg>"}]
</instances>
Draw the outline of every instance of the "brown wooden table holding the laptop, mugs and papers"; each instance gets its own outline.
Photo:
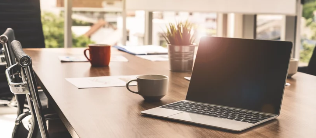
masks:
<instances>
[{"instance_id":1,"label":"brown wooden table holding the laptop, mugs and papers","mask_svg":"<svg viewBox=\"0 0 316 138\"><path fill-rule=\"evenodd\" d=\"M45 93L74 138L311 138L316 137L316 76L297 73L287 82L281 115L242 132L141 115L141 111L185 99L191 73L169 71L168 62L151 62L112 49L129 62L109 67L90 63L61 63L59 55L82 55L82 48L24 49ZM125 87L78 89L65 78L112 75L162 74L170 77L167 96L144 102ZM133 86L132 88L136 88Z\"/></svg>"}]
</instances>

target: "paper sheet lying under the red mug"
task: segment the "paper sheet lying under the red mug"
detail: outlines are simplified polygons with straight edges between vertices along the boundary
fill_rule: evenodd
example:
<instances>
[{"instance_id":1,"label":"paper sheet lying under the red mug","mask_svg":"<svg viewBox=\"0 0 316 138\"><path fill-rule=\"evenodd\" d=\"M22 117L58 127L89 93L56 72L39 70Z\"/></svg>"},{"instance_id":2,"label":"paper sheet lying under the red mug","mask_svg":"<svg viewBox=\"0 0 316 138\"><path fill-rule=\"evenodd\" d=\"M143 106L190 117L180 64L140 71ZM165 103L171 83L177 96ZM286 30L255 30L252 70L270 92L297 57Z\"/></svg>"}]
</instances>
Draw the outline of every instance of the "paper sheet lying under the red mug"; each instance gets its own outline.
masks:
<instances>
[{"instance_id":1,"label":"paper sheet lying under the red mug","mask_svg":"<svg viewBox=\"0 0 316 138\"><path fill-rule=\"evenodd\" d=\"M58 56L61 62L88 62L88 59L85 56L77 55L77 56ZM112 62L128 62L128 59L121 55L112 55L110 58Z\"/></svg>"}]
</instances>

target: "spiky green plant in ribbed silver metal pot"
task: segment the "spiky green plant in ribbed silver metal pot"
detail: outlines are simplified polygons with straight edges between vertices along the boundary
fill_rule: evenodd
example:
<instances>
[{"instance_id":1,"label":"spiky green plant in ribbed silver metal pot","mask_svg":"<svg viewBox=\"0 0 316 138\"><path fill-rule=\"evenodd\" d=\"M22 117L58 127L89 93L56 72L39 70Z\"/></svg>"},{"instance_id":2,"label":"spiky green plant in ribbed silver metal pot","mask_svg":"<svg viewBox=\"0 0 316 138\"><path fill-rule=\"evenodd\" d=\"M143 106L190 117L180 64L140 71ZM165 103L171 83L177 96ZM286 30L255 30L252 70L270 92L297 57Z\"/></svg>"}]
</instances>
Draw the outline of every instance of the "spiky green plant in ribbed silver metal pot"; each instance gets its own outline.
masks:
<instances>
[{"instance_id":1,"label":"spiky green plant in ribbed silver metal pot","mask_svg":"<svg viewBox=\"0 0 316 138\"><path fill-rule=\"evenodd\" d=\"M169 23L163 37L167 41L168 57L171 71L192 71L195 38L192 24L188 21Z\"/></svg>"}]
</instances>

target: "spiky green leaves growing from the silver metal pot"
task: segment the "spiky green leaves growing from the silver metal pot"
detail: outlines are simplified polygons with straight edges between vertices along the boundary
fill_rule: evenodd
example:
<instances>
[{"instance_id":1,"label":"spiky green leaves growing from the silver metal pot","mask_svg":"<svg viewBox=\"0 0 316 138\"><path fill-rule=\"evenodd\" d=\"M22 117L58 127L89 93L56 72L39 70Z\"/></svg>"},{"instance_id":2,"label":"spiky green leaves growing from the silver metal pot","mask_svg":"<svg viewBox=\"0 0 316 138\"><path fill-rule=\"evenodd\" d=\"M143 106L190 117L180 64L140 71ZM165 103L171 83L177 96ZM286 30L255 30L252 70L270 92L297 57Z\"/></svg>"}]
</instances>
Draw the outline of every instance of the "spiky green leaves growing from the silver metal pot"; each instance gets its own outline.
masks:
<instances>
[{"instance_id":1,"label":"spiky green leaves growing from the silver metal pot","mask_svg":"<svg viewBox=\"0 0 316 138\"><path fill-rule=\"evenodd\" d=\"M192 45L195 38L191 30L193 25L188 21L177 22L175 24L169 23L167 25L167 32L164 32L163 37L166 39L168 44L177 46L188 46Z\"/></svg>"}]
</instances>

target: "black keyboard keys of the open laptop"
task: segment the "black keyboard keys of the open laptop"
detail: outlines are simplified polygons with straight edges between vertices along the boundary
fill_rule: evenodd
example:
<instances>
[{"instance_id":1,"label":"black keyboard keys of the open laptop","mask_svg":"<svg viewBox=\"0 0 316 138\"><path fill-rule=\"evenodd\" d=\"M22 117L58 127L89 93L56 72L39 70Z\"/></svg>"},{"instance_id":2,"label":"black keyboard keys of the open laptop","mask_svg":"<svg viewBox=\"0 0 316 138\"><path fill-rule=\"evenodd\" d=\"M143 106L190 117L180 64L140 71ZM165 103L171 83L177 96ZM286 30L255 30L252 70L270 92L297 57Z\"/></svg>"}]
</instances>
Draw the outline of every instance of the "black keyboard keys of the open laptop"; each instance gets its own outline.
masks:
<instances>
[{"instance_id":1,"label":"black keyboard keys of the open laptop","mask_svg":"<svg viewBox=\"0 0 316 138\"><path fill-rule=\"evenodd\" d=\"M272 115L267 114L183 101L164 105L160 108L179 110L188 113L203 114L212 117L230 119L252 124L273 117Z\"/></svg>"}]
</instances>

